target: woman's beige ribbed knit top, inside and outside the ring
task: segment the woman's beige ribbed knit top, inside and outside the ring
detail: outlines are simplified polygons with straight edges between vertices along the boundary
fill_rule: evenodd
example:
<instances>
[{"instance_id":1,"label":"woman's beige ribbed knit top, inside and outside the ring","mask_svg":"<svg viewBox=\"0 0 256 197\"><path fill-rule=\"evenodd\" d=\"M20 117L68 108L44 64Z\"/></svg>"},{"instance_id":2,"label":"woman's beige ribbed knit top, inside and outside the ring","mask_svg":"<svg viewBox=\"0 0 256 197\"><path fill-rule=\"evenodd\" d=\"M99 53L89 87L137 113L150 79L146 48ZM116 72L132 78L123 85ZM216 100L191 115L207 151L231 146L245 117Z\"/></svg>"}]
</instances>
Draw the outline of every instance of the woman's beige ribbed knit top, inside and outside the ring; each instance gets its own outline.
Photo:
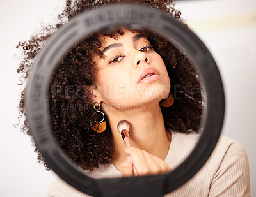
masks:
<instances>
[{"instance_id":1,"label":"woman's beige ribbed knit top, inside and outside the ring","mask_svg":"<svg viewBox=\"0 0 256 197\"><path fill-rule=\"evenodd\" d=\"M172 142L165 162L171 168L179 166L193 150L198 137L196 134L182 134L172 131ZM85 171L93 179L121 177L120 171L111 164L102 164L95 170ZM47 197L88 197L58 178L49 187ZM198 196L251 196L248 156L241 143L220 136L207 162L191 178L164 197Z\"/></svg>"}]
</instances>

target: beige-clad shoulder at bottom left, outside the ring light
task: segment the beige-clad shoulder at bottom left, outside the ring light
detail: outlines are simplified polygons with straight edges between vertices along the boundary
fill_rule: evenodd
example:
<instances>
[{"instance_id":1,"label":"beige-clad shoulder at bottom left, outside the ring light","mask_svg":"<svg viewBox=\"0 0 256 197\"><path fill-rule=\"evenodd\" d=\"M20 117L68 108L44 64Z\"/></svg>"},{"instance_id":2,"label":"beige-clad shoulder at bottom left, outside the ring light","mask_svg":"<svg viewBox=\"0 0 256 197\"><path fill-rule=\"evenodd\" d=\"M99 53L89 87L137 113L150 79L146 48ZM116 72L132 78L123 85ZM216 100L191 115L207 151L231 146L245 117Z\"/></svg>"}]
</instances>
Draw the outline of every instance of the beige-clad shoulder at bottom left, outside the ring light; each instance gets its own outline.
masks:
<instances>
[{"instance_id":1,"label":"beige-clad shoulder at bottom left, outside the ring light","mask_svg":"<svg viewBox=\"0 0 256 197\"><path fill-rule=\"evenodd\" d=\"M58 177L47 190L46 197L90 197L90 195L82 193L75 187L70 186L65 180Z\"/></svg>"}]
</instances>

